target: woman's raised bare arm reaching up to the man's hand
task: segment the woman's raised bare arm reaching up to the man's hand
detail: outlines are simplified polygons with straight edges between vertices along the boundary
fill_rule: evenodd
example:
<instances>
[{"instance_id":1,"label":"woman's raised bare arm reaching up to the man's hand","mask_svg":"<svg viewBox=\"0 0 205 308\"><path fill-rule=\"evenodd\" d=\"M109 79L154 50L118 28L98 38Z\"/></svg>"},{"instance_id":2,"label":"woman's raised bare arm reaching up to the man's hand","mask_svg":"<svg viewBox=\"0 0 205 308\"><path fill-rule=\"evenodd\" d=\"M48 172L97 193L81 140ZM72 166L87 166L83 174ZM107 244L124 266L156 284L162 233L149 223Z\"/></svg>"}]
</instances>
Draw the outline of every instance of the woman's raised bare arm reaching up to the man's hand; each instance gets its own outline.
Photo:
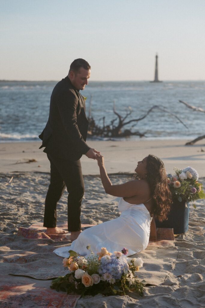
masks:
<instances>
[{"instance_id":1,"label":"woman's raised bare arm reaching up to the man's hand","mask_svg":"<svg viewBox=\"0 0 205 308\"><path fill-rule=\"evenodd\" d=\"M101 181L106 193L115 197L133 197L137 194L144 194L144 181L132 180L124 184L112 185L104 166L103 156L101 156L100 154L97 154L96 156L97 164L100 168Z\"/></svg>"}]
</instances>

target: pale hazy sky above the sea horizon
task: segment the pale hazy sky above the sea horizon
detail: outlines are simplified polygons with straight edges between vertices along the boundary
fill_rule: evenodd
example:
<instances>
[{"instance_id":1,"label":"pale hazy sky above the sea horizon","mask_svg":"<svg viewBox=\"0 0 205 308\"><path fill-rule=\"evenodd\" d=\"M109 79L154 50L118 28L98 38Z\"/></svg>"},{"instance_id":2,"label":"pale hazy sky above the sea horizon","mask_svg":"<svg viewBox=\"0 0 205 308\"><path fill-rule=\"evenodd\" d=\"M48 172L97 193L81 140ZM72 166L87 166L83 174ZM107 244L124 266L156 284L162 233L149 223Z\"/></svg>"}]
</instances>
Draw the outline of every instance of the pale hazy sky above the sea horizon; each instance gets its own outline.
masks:
<instances>
[{"instance_id":1,"label":"pale hazy sky above the sea horizon","mask_svg":"<svg viewBox=\"0 0 205 308\"><path fill-rule=\"evenodd\" d=\"M205 80L205 0L0 0L0 79Z\"/></svg>"}]
</instances>

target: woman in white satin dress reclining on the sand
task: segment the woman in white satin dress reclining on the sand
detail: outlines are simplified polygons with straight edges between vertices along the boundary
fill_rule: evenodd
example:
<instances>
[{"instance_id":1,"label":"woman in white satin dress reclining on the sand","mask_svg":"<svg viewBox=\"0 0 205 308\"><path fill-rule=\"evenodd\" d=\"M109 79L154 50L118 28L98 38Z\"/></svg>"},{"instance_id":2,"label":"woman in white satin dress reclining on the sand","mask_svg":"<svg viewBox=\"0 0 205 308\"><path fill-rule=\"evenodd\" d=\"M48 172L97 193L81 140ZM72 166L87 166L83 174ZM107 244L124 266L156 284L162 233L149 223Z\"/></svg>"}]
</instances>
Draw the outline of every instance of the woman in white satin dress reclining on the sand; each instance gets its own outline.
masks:
<instances>
[{"instance_id":1,"label":"woman in white satin dress reclining on the sand","mask_svg":"<svg viewBox=\"0 0 205 308\"><path fill-rule=\"evenodd\" d=\"M104 167L103 156L97 154L101 181L109 195L121 197L118 208L120 217L85 229L72 242L70 249L86 255L90 245L94 253L105 247L109 252L128 249L128 256L144 250L149 238L156 240L156 226L153 216L162 221L167 218L171 205L171 194L163 162L156 156L148 155L139 161L135 172L138 180L112 185ZM68 249L67 249L68 251ZM65 247L55 251L68 257ZM64 253L65 252L65 253Z\"/></svg>"}]
</instances>

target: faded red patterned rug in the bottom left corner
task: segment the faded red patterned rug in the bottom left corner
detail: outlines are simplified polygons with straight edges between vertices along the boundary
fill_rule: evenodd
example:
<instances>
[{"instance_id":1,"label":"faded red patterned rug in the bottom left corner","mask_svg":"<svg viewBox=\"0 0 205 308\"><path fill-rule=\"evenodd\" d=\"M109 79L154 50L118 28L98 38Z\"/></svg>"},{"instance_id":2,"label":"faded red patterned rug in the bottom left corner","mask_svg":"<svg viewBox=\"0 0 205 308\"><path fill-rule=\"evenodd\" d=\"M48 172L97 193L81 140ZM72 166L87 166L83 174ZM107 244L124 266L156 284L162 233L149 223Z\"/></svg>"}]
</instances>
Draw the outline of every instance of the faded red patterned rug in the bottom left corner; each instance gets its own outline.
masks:
<instances>
[{"instance_id":1,"label":"faded red patterned rug in the bottom left corner","mask_svg":"<svg viewBox=\"0 0 205 308\"><path fill-rule=\"evenodd\" d=\"M79 295L50 289L50 281L0 275L1 308L75 308Z\"/></svg>"}]
</instances>

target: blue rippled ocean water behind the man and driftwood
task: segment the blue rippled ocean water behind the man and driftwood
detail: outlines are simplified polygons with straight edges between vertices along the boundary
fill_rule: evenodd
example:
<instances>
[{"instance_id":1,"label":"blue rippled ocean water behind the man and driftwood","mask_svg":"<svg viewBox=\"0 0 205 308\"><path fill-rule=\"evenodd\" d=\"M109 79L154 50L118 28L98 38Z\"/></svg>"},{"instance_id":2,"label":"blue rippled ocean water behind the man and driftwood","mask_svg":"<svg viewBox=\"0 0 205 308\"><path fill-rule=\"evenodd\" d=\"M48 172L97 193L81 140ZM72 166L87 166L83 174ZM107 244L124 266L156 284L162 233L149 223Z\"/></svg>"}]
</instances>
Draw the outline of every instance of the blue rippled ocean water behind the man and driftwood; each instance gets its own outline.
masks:
<instances>
[{"instance_id":1,"label":"blue rippled ocean water behind the man and driftwood","mask_svg":"<svg viewBox=\"0 0 205 308\"><path fill-rule=\"evenodd\" d=\"M48 120L50 95L56 83L0 81L0 142L39 140L37 136ZM154 105L166 109L166 112L154 109L144 120L124 127L133 126L133 132L145 133L146 137L143 138L191 140L205 132L205 113L193 111L179 103L180 99L205 110L205 81L90 81L81 94L87 97L87 116L92 98L91 115L99 125L103 124L103 117L105 124L117 119L113 113L115 100L116 111L122 116L128 107L132 108L127 120L144 116Z\"/></svg>"}]
</instances>

